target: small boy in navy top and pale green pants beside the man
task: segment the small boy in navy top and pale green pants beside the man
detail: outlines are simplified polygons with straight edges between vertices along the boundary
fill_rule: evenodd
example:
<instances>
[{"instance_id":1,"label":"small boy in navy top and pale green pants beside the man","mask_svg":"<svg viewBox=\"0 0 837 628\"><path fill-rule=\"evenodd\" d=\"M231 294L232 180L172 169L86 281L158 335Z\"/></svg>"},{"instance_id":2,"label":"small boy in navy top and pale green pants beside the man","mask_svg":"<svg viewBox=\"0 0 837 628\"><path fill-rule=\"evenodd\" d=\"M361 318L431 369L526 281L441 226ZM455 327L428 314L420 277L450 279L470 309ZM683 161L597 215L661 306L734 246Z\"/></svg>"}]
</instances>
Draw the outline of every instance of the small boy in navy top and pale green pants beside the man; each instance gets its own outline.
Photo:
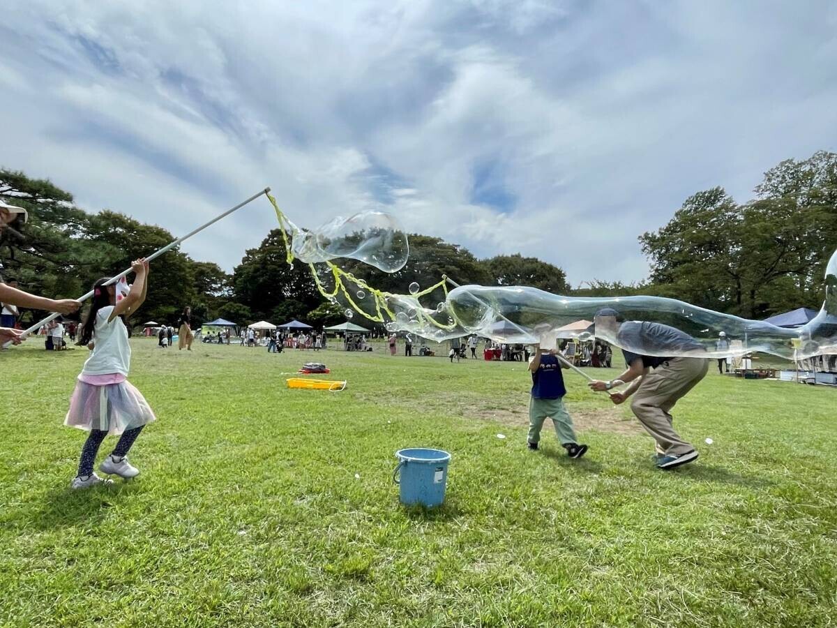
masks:
<instances>
[{"instance_id":1,"label":"small boy in navy top and pale green pants beside the man","mask_svg":"<svg viewBox=\"0 0 837 628\"><path fill-rule=\"evenodd\" d=\"M529 449L537 450L541 440L543 421L552 419L555 433L561 445L567 450L567 456L580 458L587 453L587 445L579 445L573 430L573 420L564 408L563 396L567 394L564 386L562 368L567 368L555 357L555 349L542 349L535 345L535 353L529 363L531 371L531 399L529 401Z\"/></svg>"}]
</instances>

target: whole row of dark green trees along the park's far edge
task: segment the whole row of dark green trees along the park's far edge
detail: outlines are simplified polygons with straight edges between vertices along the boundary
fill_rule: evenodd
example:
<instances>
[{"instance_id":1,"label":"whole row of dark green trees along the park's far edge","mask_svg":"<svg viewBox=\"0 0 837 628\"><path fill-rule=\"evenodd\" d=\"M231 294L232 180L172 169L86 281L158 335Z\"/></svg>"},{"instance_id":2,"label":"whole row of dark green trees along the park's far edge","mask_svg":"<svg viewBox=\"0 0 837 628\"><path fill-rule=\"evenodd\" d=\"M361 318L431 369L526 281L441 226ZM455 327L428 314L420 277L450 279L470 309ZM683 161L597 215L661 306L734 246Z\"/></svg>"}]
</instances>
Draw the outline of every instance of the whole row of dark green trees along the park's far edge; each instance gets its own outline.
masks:
<instances>
[{"instance_id":1,"label":"whole row of dark green trees along the park's far edge","mask_svg":"<svg viewBox=\"0 0 837 628\"><path fill-rule=\"evenodd\" d=\"M687 198L668 224L639 236L650 275L630 285L591 280L573 290L564 271L543 260L480 260L463 246L423 234L410 235L407 265L396 273L352 260L341 266L393 292L407 292L412 281L431 286L448 275L461 284L534 286L576 296L671 296L750 318L819 307L824 266L837 249L837 154L783 161L765 173L754 193L745 203L723 188ZM0 169L0 196L28 208L30 216L28 224L0 234L0 275L44 296L79 296L96 278L124 270L132 259L174 239L167 229L117 211L86 212L71 193L23 172ZM173 324L187 305L198 322L344 320L341 308L316 290L307 265L286 263L279 229L247 250L232 274L182 251L165 258L166 280L151 281L142 321ZM28 312L24 321L39 316Z\"/></svg>"}]
</instances>

